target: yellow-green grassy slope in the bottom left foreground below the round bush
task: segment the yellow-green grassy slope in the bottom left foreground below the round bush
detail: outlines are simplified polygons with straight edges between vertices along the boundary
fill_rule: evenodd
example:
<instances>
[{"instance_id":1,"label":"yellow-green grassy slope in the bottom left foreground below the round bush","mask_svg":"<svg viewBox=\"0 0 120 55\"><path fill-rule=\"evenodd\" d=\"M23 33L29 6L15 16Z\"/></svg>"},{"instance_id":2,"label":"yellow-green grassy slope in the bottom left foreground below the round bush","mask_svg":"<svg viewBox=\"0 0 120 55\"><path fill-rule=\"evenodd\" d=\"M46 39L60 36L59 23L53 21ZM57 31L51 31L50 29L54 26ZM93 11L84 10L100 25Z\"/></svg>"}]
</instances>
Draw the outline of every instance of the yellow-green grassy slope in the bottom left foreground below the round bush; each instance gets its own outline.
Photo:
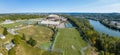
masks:
<instances>
[{"instance_id":1,"label":"yellow-green grassy slope in the bottom left foreground below the round bush","mask_svg":"<svg viewBox=\"0 0 120 55\"><path fill-rule=\"evenodd\" d=\"M14 41L19 44L16 44L16 46L12 49L11 53L14 53L13 51L15 51L16 55L46 55L46 54L57 55L57 53L55 52L48 52L48 51L44 51L39 48L30 46L24 40L22 40L19 36L15 36Z\"/></svg>"}]
</instances>

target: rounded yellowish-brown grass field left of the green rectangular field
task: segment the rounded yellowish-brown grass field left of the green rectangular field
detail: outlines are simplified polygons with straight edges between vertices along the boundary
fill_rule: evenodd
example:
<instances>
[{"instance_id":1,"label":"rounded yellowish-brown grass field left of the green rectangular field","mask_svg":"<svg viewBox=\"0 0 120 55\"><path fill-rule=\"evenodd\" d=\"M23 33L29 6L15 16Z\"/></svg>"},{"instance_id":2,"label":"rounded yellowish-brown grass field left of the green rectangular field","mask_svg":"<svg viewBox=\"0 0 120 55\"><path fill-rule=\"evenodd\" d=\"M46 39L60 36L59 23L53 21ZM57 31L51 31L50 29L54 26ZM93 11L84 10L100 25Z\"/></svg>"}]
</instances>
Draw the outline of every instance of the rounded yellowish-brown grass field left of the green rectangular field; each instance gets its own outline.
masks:
<instances>
[{"instance_id":1,"label":"rounded yellowish-brown grass field left of the green rectangular field","mask_svg":"<svg viewBox=\"0 0 120 55\"><path fill-rule=\"evenodd\" d=\"M53 31L44 26L32 26L26 29L22 29L18 31L21 34L25 34L26 40L29 38L33 38L37 41L36 47L49 48L51 45L50 39L53 35Z\"/></svg>"}]
</instances>

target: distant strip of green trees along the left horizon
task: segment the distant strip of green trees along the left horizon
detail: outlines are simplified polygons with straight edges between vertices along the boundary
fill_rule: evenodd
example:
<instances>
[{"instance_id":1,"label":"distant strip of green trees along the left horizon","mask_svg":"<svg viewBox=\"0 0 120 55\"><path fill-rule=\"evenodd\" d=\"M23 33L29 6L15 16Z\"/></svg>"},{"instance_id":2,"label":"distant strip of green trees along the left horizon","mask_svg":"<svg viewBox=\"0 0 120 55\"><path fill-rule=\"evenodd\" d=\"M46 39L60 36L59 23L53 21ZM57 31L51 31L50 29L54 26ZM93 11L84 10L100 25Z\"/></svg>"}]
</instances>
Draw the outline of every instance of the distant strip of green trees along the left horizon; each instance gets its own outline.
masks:
<instances>
[{"instance_id":1,"label":"distant strip of green trees along the left horizon","mask_svg":"<svg viewBox=\"0 0 120 55\"><path fill-rule=\"evenodd\" d=\"M46 15L38 15L38 14L5 14L0 15L0 21L4 21L6 19L10 20L20 20L20 19L33 19L33 18L44 18Z\"/></svg>"}]
</instances>

